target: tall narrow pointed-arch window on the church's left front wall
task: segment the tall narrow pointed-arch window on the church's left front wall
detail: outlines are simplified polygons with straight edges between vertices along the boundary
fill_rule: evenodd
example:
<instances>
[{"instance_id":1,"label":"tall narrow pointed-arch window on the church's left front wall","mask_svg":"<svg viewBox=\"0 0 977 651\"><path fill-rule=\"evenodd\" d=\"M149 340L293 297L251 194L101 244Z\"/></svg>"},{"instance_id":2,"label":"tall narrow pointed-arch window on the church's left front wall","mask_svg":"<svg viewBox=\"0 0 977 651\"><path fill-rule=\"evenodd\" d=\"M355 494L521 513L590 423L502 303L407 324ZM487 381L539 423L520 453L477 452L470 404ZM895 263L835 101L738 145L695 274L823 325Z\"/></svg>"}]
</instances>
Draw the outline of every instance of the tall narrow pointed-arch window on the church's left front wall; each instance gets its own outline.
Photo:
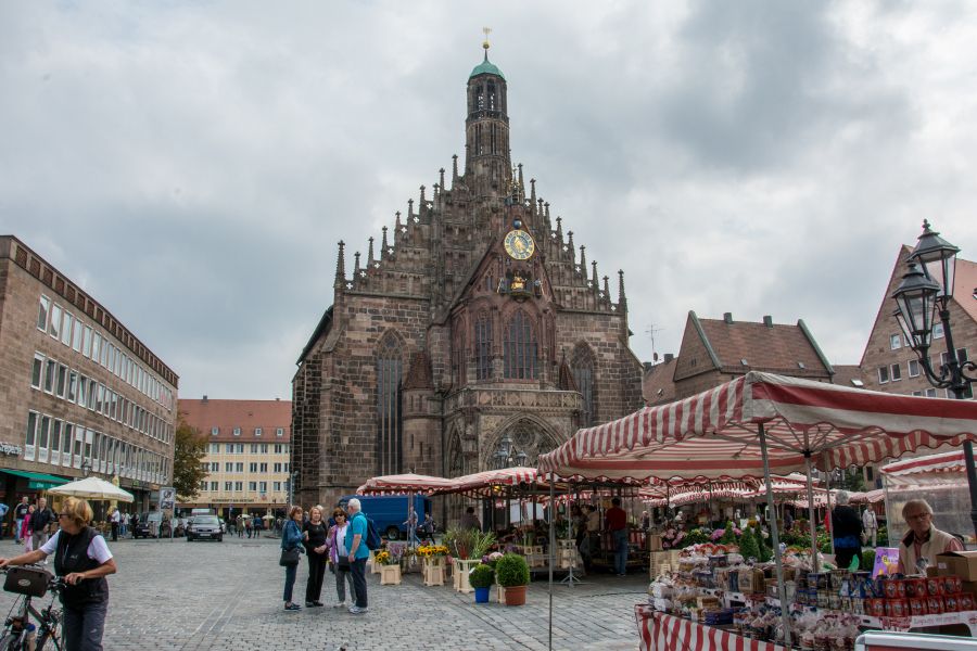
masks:
<instances>
[{"instance_id":1,"label":"tall narrow pointed-arch window on the church's left front wall","mask_svg":"<svg viewBox=\"0 0 977 651\"><path fill-rule=\"evenodd\" d=\"M377 473L403 472L404 420L402 386L404 361L395 336L386 336L377 355Z\"/></svg>"}]
</instances>

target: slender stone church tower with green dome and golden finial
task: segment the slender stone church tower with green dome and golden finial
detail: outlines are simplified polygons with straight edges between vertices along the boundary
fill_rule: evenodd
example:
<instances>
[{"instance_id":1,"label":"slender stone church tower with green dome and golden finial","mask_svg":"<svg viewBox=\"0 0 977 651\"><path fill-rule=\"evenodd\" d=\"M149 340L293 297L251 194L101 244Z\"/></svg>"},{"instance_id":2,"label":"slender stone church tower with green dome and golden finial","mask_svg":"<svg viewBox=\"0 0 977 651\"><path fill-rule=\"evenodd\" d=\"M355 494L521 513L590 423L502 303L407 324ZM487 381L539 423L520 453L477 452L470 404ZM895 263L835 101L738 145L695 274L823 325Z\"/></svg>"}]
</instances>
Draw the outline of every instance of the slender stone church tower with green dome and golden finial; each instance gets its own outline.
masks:
<instances>
[{"instance_id":1,"label":"slender stone church tower with green dome and golden finial","mask_svg":"<svg viewBox=\"0 0 977 651\"><path fill-rule=\"evenodd\" d=\"M508 192L512 177L506 78L488 61L487 38L482 48L485 59L468 77L465 177L477 196L499 196Z\"/></svg>"}]
</instances>

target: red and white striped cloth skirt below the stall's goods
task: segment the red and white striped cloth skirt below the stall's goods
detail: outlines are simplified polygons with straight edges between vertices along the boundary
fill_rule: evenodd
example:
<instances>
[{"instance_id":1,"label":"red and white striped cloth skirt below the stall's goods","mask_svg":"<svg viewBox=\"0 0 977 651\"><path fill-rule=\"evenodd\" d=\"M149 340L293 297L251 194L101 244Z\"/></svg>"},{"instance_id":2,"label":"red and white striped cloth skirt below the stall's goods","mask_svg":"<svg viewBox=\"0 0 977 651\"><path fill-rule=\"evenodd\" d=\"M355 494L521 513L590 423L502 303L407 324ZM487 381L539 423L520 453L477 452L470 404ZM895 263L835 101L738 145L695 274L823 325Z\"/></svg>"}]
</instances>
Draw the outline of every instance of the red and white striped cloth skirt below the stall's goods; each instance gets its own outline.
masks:
<instances>
[{"instance_id":1,"label":"red and white striped cloth skirt below the stall's goods","mask_svg":"<svg viewBox=\"0 0 977 651\"><path fill-rule=\"evenodd\" d=\"M642 636L642 651L788 651L781 644L659 613L643 603L634 607L634 617Z\"/></svg>"}]
</instances>

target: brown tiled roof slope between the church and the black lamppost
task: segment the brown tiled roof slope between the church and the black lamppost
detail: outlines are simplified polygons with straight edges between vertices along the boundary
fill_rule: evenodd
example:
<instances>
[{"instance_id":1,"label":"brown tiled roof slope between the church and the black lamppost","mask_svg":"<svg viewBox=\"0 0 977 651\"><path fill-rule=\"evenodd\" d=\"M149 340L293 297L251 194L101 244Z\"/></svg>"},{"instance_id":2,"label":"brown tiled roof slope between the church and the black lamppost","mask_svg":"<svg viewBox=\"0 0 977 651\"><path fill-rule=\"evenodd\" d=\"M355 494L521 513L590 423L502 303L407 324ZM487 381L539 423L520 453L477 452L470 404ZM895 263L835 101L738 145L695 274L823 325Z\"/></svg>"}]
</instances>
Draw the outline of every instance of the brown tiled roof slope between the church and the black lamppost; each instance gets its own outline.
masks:
<instances>
[{"instance_id":1,"label":"brown tiled roof slope between the church and the black lamppost","mask_svg":"<svg viewBox=\"0 0 977 651\"><path fill-rule=\"evenodd\" d=\"M797 376L828 373L829 369L822 361L816 344L805 334L802 321L797 326L727 323L723 319L700 319L699 322L724 372L752 369Z\"/></svg>"}]
</instances>

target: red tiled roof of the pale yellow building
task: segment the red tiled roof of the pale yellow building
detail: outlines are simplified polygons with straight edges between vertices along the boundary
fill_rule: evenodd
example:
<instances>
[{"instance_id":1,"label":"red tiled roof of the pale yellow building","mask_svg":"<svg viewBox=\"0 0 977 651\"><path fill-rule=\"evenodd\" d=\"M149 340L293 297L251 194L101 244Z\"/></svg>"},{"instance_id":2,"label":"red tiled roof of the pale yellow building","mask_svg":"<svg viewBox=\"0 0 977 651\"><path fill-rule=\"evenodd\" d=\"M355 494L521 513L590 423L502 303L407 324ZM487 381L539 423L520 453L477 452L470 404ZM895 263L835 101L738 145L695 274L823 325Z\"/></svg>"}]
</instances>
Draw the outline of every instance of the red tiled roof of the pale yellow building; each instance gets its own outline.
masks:
<instances>
[{"instance_id":1,"label":"red tiled roof of the pale yellow building","mask_svg":"<svg viewBox=\"0 0 977 651\"><path fill-rule=\"evenodd\" d=\"M180 398L180 413L187 423L207 436L208 441L233 441L239 443L288 443L292 436L291 400L194 400ZM213 427L220 433L212 436ZM234 436L234 427L241 435ZM255 427L262 435L255 436ZM275 435L278 427L284 435Z\"/></svg>"}]
</instances>

